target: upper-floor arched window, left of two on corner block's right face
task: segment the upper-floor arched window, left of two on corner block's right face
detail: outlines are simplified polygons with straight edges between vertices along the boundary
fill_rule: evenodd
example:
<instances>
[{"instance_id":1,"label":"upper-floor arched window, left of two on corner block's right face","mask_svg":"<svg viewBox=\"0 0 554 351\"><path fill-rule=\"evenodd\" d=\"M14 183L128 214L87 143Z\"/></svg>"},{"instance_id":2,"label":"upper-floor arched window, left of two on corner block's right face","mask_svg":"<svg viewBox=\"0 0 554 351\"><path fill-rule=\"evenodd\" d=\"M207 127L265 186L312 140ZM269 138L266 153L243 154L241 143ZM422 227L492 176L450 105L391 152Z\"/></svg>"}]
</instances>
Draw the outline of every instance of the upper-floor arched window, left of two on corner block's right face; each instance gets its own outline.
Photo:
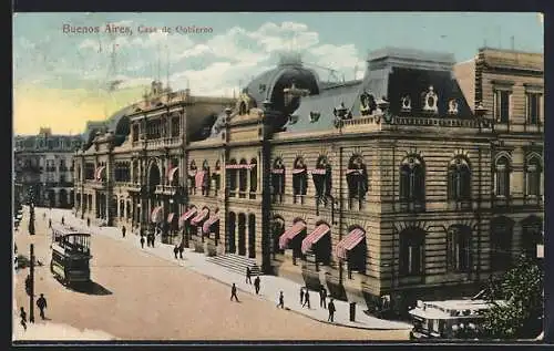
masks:
<instances>
[{"instance_id":1,"label":"upper-floor arched window, left of two on corner block's right face","mask_svg":"<svg viewBox=\"0 0 554 351\"><path fill-rule=\"evenodd\" d=\"M400 166L400 200L423 208L425 202L425 167L421 158L408 156Z\"/></svg>"}]
</instances>

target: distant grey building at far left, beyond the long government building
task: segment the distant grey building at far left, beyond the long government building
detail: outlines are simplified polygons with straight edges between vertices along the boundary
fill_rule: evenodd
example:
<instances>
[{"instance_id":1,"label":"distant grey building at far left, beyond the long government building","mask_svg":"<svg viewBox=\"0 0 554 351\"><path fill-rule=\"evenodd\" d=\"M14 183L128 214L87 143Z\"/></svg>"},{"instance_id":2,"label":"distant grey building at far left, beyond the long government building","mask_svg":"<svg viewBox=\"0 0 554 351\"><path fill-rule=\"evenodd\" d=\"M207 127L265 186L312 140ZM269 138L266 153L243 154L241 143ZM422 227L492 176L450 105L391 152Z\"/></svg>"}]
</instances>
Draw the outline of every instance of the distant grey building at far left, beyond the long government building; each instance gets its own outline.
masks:
<instances>
[{"instance_id":1,"label":"distant grey building at far left, beyond the long government building","mask_svg":"<svg viewBox=\"0 0 554 351\"><path fill-rule=\"evenodd\" d=\"M34 192L37 206L73 207L73 153L80 135L53 135L40 128L38 135L16 135L14 185L21 202Z\"/></svg>"}]
</instances>

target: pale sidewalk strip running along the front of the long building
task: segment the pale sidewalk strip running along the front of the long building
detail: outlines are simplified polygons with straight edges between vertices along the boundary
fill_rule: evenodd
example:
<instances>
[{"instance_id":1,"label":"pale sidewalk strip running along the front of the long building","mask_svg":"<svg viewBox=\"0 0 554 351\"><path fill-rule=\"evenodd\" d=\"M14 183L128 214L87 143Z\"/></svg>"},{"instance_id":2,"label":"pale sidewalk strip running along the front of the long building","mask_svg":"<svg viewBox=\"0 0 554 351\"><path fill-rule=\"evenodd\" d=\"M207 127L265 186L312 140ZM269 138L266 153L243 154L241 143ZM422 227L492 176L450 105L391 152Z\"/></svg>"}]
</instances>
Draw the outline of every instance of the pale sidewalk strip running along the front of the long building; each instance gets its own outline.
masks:
<instances>
[{"instance_id":1,"label":"pale sidewalk strip running along the front of the long building","mask_svg":"<svg viewBox=\"0 0 554 351\"><path fill-rule=\"evenodd\" d=\"M115 227L96 227L91 225L90 228L86 227L86 220L75 218L71 210L65 209L52 209L52 221L60 221L61 217L65 218L65 224L74 226L76 228L82 228L85 231L90 231L93 235L104 235L112 239L126 241L131 247L142 250L148 255L153 255L165 259L167 261L174 262L177 266L186 267L194 270L203 276L211 277L222 283L232 286L233 282L238 288L238 298L240 299L240 293L250 293L256 296L254 290L254 285L245 282L245 276L233 272L225 269L218 265L212 264L206 260L204 254L194 252L192 249L185 249L184 259L175 259L173 254L173 246L161 244L158 240L154 248L145 246L141 249L140 237L134 233L125 235L122 237L120 228ZM157 239L157 238L156 238ZM294 311L296 313L304 314L311 319L327 322L328 311L319 307L319 293L317 291L310 290L310 302L311 308L302 308L299 301L300 285L294 281L287 280L281 277L275 276L260 276L260 292L258 298L269 300L277 306L279 291L283 291L285 296L285 308L287 310ZM254 278L253 278L254 281ZM358 328L358 329L370 329L370 330L411 330L412 326L404 322L388 321L370 317L363 312L363 308L360 304L356 306L356 321L351 322L349 320L349 303L345 301L335 300L335 307L337 311L335 312L335 323L337 326Z\"/></svg>"}]
</instances>

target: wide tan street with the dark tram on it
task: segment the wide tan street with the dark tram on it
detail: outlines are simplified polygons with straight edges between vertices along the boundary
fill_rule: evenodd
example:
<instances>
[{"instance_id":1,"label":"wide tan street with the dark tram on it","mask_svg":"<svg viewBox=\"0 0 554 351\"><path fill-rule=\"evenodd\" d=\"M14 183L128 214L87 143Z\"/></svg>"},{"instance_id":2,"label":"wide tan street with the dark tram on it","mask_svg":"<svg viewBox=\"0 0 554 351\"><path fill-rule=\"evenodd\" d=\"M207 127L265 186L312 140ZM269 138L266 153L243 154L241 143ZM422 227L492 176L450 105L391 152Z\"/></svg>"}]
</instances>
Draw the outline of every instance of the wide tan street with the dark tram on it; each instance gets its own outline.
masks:
<instances>
[{"instance_id":1,"label":"wide tan street with the dark tram on it","mask_svg":"<svg viewBox=\"0 0 554 351\"><path fill-rule=\"evenodd\" d=\"M34 242L43 264L35 267L34 291L47 297L49 320L40 320L35 307L37 323L99 330L123 340L408 340L407 331L321 323L242 291L240 302L230 302L227 286L101 235L91 238L92 291L63 287L50 272L49 216L43 219L43 211L37 208L35 236L27 233L28 207L14 234L18 254L29 257ZM14 296L18 310L24 307L29 317L28 273L29 268L17 272ZM286 304L296 300L285 297ZM21 329L17 316L14 328Z\"/></svg>"}]
</instances>

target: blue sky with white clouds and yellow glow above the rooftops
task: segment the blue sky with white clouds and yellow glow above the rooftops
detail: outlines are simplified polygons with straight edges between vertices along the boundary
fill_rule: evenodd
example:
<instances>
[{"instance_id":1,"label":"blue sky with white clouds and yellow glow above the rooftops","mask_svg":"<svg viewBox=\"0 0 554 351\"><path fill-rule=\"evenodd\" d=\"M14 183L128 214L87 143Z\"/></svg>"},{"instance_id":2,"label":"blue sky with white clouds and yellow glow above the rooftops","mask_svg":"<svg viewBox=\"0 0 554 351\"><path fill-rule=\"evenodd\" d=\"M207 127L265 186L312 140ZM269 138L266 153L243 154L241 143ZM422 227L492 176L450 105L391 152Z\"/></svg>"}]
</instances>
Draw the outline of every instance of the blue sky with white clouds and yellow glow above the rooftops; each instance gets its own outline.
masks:
<instances>
[{"instance_id":1,"label":"blue sky with white clouds and yellow glow above the rooftops","mask_svg":"<svg viewBox=\"0 0 554 351\"><path fill-rule=\"evenodd\" d=\"M110 33L107 24L127 29ZM76 27L98 27L98 32L66 31ZM50 126L55 134L83 133L86 121L105 120L138 101L154 79L168 81L174 90L189 87L193 95L233 96L287 51L299 52L321 80L352 80L363 76L368 53L384 47L449 52L462 62L484 45L543 52L542 17L531 12L16 13L13 132L35 134L40 126Z\"/></svg>"}]
</instances>

